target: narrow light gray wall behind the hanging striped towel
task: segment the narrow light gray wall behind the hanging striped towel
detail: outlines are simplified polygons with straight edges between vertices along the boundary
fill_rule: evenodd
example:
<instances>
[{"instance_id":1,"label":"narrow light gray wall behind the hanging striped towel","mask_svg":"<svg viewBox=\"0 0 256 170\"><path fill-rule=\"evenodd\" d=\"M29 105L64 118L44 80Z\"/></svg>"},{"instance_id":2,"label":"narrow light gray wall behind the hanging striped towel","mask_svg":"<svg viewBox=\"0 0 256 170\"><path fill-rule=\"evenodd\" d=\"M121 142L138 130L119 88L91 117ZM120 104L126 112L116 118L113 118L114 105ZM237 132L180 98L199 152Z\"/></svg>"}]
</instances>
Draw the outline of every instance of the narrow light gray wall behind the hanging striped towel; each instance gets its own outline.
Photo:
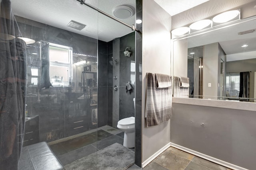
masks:
<instances>
[{"instance_id":1,"label":"narrow light gray wall behind the hanging striped towel","mask_svg":"<svg viewBox=\"0 0 256 170\"><path fill-rule=\"evenodd\" d=\"M170 121L146 127L145 98L146 72L170 74L171 16L154 0L146 0L142 6L142 164L170 143ZM161 140L159 140L161 139ZM149 162L148 162L149 163Z\"/></svg>"}]
</instances>

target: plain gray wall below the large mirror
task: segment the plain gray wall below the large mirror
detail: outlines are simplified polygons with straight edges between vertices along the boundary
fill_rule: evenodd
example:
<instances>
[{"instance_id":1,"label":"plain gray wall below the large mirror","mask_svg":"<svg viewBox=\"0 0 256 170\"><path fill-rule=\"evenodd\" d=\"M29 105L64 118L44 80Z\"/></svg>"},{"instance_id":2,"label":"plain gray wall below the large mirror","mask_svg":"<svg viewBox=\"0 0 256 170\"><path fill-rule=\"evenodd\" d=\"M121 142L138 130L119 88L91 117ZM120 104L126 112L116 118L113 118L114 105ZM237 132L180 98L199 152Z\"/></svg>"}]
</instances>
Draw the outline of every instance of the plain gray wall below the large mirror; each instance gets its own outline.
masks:
<instances>
[{"instance_id":1,"label":"plain gray wall below the large mirror","mask_svg":"<svg viewBox=\"0 0 256 170\"><path fill-rule=\"evenodd\" d=\"M173 103L171 142L253 170L255 121L256 111Z\"/></svg>"}]
</instances>

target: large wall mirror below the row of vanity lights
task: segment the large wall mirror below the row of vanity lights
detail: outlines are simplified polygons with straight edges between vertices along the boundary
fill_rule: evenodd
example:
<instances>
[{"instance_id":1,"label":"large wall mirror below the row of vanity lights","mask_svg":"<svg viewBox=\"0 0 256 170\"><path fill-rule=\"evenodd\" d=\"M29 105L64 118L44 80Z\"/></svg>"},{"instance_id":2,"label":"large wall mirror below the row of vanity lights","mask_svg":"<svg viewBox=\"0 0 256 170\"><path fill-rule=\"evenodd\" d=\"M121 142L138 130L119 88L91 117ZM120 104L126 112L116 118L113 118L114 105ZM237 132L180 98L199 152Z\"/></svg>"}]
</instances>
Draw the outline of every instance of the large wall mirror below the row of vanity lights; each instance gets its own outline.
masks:
<instances>
[{"instance_id":1,"label":"large wall mirror below the row of vanity lights","mask_svg":"<svg viewBox=\"0 0 256 170\"><path fill-rule=\"evenodd\" d=\"M253 16L173 39L173 75L190 78L186 97L255 102L255 28Z\"/></svg>"}]
</instances>

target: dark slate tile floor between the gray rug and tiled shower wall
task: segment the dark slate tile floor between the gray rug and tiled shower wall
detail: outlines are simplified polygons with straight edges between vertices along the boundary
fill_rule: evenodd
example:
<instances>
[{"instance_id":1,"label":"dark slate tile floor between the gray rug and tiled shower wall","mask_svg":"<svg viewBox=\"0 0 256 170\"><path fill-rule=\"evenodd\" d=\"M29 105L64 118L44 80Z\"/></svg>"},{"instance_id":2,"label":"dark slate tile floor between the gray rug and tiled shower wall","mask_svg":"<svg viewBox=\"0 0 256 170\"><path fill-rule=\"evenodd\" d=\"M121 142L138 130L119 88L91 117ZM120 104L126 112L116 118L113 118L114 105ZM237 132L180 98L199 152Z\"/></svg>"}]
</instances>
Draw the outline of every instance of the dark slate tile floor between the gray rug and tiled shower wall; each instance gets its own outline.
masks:
<instances>
[{"instance_id":1,"label":"dark slate tile floor between the gray rug and tiled shower wall","mask_svg":"<svg viewBox=\"0 0 256 170\"><path fill-rule=\"evenodd\" d=\"M97 137L98 136L98 137ZM98 131L74 137L66 141L50 144L50 148L65 166L77 159L83 158L104 149L114 143L123 144L124 133L109 126L102 127ZM132 149L134 151L134 149Z\"/></svg>"}]
</instances>

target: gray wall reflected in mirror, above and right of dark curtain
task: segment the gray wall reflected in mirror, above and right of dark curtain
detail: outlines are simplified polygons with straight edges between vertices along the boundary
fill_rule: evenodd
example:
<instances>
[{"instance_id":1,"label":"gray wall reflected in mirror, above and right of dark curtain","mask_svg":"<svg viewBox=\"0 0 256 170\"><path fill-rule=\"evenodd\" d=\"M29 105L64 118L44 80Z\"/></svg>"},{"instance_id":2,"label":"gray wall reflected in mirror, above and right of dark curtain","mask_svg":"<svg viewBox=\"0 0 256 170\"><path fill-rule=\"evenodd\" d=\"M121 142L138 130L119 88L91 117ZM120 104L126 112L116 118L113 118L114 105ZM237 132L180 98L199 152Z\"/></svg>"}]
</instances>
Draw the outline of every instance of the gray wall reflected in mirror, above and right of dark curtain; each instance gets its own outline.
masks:
<instances>
[{"instance_id":1,"label":"gray wall reflected in mirror, above and right of dark curtain","mask_svg":"<svg viewBox=\"0 0 256 170\"><path fill-rule=\"evenodd\" d=\"M251 71L249 74L249 97L254 98L254 72L256 71L256 59L229 61L226 64L226 70L228 73Z\"/></svg>"}]
</instances>

